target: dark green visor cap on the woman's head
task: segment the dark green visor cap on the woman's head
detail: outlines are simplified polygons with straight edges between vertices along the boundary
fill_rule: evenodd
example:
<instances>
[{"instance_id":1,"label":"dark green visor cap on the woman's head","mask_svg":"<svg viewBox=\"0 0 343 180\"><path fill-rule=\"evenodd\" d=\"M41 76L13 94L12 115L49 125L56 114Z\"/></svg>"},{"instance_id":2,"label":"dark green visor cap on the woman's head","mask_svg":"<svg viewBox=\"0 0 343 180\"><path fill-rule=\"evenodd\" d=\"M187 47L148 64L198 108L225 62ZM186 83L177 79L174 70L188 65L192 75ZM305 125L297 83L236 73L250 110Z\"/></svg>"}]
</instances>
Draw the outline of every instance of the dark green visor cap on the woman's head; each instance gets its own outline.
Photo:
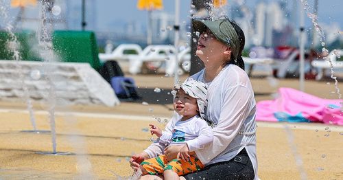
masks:
<instances>
[{"instance_id":1,"label":"dark green visor cap on the woman's head","mask_svg":"<svg viewBox=\"0 0 343 180\"><path fill-rule=\"evenodd\" d=\"M206 28L209 28L213 35L222 43L231 47L233 57L235 60L239 54L239 37L235 30L235 27L226 19L217 19L215 21L209 20L194 20L193 29L196 32L204 32Z\"/></svg>"}]
</instances>

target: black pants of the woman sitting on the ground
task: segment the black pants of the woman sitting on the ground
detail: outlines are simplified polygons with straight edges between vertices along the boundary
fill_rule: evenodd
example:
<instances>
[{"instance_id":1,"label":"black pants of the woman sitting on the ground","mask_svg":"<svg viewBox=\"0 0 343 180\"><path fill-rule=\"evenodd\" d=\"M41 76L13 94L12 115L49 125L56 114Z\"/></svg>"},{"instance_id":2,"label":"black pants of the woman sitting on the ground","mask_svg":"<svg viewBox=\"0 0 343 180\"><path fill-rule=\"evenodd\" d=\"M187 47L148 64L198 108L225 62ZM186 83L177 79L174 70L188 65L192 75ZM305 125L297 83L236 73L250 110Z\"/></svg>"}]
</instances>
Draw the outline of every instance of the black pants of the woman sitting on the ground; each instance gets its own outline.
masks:
<instances>
[{"instance_id":1,"label":"black pants of the woman sitting on the ground","mask_svg":"<svg viewBox=\"0 0 343 180\"><path fill-rule=\"evenodd\" d=\"M188 175L186 179L254 179L254 168L244 148L230 161L222 161L206 166Z\"/></svg>"}]
</instances>

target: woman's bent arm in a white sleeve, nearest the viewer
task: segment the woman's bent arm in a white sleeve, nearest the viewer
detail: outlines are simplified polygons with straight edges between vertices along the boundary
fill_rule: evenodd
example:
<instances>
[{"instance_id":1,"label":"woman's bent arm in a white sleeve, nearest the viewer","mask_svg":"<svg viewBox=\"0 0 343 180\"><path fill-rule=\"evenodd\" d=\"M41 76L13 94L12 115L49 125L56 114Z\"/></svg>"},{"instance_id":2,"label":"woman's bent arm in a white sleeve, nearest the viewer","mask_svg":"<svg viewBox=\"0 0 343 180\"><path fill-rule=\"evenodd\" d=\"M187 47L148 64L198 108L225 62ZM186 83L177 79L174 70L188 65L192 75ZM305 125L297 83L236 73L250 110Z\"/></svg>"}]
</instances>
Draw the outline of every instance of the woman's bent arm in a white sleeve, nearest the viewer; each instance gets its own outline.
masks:
<instances>
[{"instance_id":1,"label":"woman's bent arm in a white sleeve, nearest the viewer","mask_svg":"<svg viewBox=\"0 0 343 180\"><path fill-rule=\"evenodd\" d=\"M237 85L225 89L220 117L213 128L213 142L196 150L200 161L206 164L227 148L248 117L253 98L253 92L248 87Z\"/></svg>"}]
</instances>

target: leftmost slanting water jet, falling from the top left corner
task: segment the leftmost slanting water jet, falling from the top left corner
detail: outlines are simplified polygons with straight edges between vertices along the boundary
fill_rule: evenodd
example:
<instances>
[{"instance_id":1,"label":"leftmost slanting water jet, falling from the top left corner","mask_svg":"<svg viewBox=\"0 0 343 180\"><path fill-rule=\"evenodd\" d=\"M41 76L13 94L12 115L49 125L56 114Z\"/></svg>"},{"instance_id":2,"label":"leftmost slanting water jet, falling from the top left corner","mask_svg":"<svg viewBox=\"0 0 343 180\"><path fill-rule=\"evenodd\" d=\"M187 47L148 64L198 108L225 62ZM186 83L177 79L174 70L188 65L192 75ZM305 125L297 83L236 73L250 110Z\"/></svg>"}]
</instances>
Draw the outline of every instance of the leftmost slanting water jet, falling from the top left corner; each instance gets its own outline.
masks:
<instances>
[{"instance_id":1,"label":"leftmost slanting water jet, falling from the top left corner","mask_svg":"<svg viewBox=\"0 0 343 180\"><path fill-rule=\"evenodd\" d=\"M13 26L8 21L8 8L5 7L3 1L0 1L0 14L2 17L1 19L3 19L3 22L5 23L5 31L9 34L9 39L7 42L8 47L10 47L9 49L13 53L13 59L16 60L16 69L18 69L19 79L21 80L21 85L23 85L22 88L24 91L24 98L26 100L27 110L29 111L29 120L32 124L32 127L34 128L34 132L38 133L39 131L37 131L36 128L36 118L34 117L32 100L29 97L29 89L25 83L23 69L21 65L19 65L19 61L21 61L21 56L19 54L19 41L13 33Z\"/></svg>"}]
</instances>

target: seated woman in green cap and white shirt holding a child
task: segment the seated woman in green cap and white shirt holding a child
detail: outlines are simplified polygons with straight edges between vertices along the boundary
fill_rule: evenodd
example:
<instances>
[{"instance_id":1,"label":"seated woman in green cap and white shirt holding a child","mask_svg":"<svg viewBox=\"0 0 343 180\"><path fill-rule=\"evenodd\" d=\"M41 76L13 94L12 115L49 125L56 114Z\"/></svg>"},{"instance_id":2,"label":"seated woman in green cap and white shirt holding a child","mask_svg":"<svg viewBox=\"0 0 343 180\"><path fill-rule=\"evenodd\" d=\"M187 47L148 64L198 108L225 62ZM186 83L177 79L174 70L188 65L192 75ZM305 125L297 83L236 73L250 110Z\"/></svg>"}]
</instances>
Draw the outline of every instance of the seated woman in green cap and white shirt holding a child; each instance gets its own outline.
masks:
<instances>
[{"instance_id":1,"label":"seated woman in green cap and white shirt holding a child","mask_svg":"<svg viewBox=\"0 0 343 180\"><path fill-rule=\"evenodd\" d=\"M194 21L200 32L196 54L205 68L190 78L208 85L206 120L213 126L213 142L195 153L206 165L203 170L180 179L258 179L256 157L256 102L241 52L244 32L233 21ZM164 154L175 158L180 146L169 146ZM132 156L131 167L153 154L163 153L153 144ZM146 176L141 179L158 179Z\"/></svg>"}]
</instances>

